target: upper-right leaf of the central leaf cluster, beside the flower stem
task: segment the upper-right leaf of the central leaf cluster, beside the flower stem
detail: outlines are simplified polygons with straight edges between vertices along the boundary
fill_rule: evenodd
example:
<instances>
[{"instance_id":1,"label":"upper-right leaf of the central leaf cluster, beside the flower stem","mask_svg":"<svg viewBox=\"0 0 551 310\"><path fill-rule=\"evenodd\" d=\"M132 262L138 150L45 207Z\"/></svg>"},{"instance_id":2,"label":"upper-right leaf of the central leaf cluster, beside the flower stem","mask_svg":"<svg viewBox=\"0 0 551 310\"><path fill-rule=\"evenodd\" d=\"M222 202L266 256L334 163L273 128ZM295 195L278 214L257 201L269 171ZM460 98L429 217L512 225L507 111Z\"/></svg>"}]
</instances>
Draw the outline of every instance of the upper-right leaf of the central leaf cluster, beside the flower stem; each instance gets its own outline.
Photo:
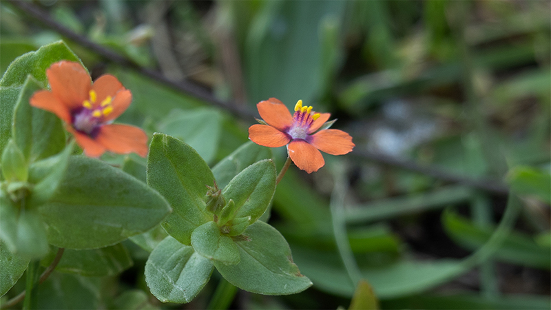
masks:
<instances>
[{"instance_id":1,"label":"upper-right leaf of the central leaf cluster, beside the flower stem","mask_svg":"<svg viewBox=\"0 0 551 310\"><path fill-rule=\"evenodd\" d=\"M254 223L268 208L275 192L275 165L265 159L250 165L222 190L226 200L233 200L235 218L251 216Z\"/></svg>"}]
</instances>

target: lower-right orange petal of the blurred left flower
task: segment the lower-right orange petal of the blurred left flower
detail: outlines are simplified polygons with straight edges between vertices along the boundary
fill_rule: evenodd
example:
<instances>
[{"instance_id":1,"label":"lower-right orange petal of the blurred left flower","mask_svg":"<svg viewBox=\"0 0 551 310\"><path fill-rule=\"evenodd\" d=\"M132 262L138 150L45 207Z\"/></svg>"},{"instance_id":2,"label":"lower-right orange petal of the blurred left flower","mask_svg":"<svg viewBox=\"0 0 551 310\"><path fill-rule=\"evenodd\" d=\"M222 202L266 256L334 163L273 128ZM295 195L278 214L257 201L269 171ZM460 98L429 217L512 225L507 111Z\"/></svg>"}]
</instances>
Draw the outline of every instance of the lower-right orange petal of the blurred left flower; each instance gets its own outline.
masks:
<instances>
[{"instance_id":1,"label":"lower-right orange petal of the blurred left flower","mask_svg":"<svg viewBox=\"0 0 551 310\"><path fill-rule=\"evenodd\" d=\"M116 154L132 152L147 156L147 134L138 127L111 124L101 126L96 141Z\"/></svg>"}]
</instances>

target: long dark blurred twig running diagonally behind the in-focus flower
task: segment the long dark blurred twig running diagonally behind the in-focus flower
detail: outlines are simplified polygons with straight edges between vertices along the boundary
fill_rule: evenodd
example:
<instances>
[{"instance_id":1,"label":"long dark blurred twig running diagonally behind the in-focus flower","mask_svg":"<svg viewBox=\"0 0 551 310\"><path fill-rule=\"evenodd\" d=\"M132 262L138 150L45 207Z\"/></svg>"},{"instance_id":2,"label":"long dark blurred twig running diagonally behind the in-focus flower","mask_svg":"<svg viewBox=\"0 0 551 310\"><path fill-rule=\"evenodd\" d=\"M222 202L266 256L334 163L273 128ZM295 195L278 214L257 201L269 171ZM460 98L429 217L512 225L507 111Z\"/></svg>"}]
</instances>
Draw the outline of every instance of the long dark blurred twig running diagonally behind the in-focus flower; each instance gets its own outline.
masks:
<instances>
[{"instance_id":1,"label":"long dark blurred twig running diagonally behind the in-focus flower","mask_svg":"<svg viewBox=\"0 0 551 310\"><path fill-rule=\"evenodd\" d=\"M100 54L108 61L112 61L114 63L118 63L119 65L132 68L137 72L145 76L148 76L149 78L155 81L158 81L159 83L169 85L170 87L173 87L174 89L180 92L184 92L191 96L195 96L198 99L202 99L206 101L207 103L211 103L212 105L216 105L217 107L221 107L222 109L228 110L233 115L238 116L243 120L252 120L253 117L256 116L255 113L251 112L251 110L243 106L238 106L233 103L227 103L224 101L220 101L219 99L216 99L215 96L213 96L208 90L206 90L203 87L200 87L198 85L195 85L189 82L170 81L169 79L165 78L163 74L160 74L160 72L141 68L140 65L138 65L137 63L134 63L134 61L130 59L127 59L127 57L121 56L120 54L117 54L112 50L108 50L107 48L104 48L103 46L90 41L86 37L83 37L65 28L65 26L51 19L48 13L37 8L30 2L17 1L17 0L8 0L8 1L12 3L12 5L15 6L16 8L19 8L19 10L23 11L28 16L32 17L33 19L36 19L37 21L40 21L41 23L48 26L52 30L59 32L59 34L63 35L67 39L70 39L75 43L79 43L79 45L82 45L83 47L88 48L89 50L92 50L97 54ZM380 163L382 165L400 167L402 169L418 172L419 174L425 174L427 176L432 176L433 178L445 180L450 183L459 183L462 185L483 189L487 192L492 192L495 194L506 195L509 192L508 187L506 187L501 183L498 183L495 180L479 180L479 179L473 179L473 178L466 178L464 176L457 176L455 174L449 174L448 172L444 172L441 169L438 169L435 167L419 165L412 161L403 161L397 158L393 158L391 156L386 156L384 154L373 154L368 152L354 151L351 153L351 155L361 158L362 160L373 161L375 163Z\"/></svg>"}]
</instances>

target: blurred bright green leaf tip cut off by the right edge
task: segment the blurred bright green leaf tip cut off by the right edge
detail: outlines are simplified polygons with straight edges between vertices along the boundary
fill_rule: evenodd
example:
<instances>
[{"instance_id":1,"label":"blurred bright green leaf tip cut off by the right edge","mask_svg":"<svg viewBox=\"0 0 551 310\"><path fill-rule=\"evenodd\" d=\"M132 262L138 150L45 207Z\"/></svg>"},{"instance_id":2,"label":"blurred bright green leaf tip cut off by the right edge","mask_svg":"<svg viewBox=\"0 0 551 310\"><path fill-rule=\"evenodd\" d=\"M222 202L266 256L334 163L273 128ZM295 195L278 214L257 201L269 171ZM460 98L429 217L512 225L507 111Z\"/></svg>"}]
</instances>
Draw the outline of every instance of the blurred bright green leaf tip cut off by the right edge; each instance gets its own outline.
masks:
<instances>
[{"instance_id":1,"label":"blurred bright green leaf tip cut off by the right edge","mask_svg":"<svg viewBox=\"0 0 551 310\"><path fill-rule=\"evenodd\" d=\"M507 181L511 190L519 195L536 196L551 203L551 174L533 167L517 166L510 169Z\"/></svg>"}]
</instances>

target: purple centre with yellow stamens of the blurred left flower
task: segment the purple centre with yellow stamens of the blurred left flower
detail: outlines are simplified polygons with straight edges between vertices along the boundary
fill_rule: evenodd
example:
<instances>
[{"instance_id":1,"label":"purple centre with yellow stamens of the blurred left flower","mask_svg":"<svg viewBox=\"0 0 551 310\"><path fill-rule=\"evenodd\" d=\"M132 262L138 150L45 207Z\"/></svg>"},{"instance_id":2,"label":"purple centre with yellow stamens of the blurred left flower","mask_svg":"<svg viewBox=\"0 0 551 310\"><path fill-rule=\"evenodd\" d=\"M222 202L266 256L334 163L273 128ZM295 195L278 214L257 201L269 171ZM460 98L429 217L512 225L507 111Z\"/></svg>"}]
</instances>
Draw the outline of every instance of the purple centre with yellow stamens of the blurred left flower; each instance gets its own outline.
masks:
<instances>
[{"instance_id":1,"label":"purple centre with yellow stamens of the blurred left flower","mask_svg":"<svg viewBox=\"0 0 551 310\"><path fill-rule=\"evenodd\" d=\"M101 103L96 103L97 94L90 90L90 98L83 101L82 107L73 113L73 127L80 132L93 135L94 131L103 123L103 117L113 112L111 96L105 97Z\"/></svg>"}]
</instances>

